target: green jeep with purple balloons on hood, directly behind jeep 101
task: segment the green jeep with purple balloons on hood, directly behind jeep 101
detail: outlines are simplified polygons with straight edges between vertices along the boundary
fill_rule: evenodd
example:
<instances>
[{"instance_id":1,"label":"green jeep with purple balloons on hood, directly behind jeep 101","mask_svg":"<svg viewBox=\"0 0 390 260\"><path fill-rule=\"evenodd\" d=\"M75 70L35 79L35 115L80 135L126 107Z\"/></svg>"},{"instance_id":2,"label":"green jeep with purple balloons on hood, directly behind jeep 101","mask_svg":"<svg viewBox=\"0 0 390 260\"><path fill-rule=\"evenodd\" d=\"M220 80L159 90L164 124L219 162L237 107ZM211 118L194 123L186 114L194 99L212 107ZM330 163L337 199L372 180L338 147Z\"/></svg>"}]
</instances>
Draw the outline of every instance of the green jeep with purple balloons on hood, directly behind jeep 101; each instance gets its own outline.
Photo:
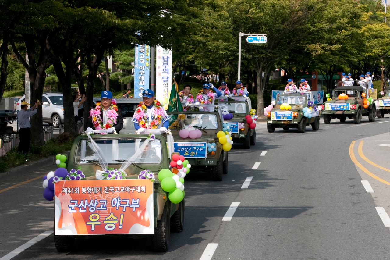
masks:
<instances>
[{"instance_id":1,"label":"green jeep with purple balloons on hood, directly behind jeep 101","mask_svg":"<svg viewBox=\"0 0 390 260\"><path fill-rule=\"evenodd\" d=\"M233 114L232 119L224 120L230 126L233 142L243 143L244 149L249 149L251 145L255 145L256 130L250 129L245 119L251 109L250 99L243 96L230 96L229 98L217 99L215 104L219 105L222 111ZM244 127L239 127L240 123L244 123Z\"/></svg>"}]
</instances>

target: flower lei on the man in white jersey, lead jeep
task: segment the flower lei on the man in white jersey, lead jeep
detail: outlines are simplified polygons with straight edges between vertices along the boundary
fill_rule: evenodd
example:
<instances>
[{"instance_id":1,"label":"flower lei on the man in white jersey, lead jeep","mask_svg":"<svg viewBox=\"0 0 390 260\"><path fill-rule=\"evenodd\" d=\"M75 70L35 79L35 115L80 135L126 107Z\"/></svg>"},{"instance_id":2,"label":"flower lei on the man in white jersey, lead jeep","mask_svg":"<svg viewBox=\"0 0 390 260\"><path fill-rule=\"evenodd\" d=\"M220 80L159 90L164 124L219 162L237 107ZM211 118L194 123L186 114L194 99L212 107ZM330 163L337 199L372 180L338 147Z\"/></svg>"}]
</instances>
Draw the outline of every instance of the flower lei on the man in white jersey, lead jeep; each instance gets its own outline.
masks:
<instances>
[{"instance_id":1,"label":"flower lei on the man in white jersey, lead jeep","mask_svg":"<svg viewBox=\"0 0 390 260\"><path fill-rule=\"evenodd\" d=\"M147 116L146 106L144 104L139 104L135 110L134 118L137 119L137 124L145 129L156 129L161 124L161 117L165 112L165 109L161 106L160 101L154 100L154 110L152 113L153 119L149 123Z\"/></svg>"}]
</instances>

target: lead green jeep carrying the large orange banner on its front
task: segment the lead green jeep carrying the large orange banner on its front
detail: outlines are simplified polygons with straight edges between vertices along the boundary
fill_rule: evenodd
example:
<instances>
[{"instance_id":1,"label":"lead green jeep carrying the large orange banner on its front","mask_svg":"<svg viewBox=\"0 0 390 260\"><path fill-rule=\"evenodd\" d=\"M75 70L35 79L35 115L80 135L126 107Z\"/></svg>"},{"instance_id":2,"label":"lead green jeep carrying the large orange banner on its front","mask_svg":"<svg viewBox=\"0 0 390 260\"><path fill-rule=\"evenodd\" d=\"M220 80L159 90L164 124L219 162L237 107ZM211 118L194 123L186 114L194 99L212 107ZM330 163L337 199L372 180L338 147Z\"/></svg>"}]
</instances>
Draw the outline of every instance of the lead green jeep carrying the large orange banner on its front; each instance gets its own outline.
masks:
<instances>
[{"instance_id":1,"label":"lead green jeep carrying the large orange banner on its front","mask_svg":"<svg viewBox=\"0 0 390 260\"><path fill-rule=\"evenodd\" d=\"M170 172L169 157L166 134L76 137L67 168L79 169L85 180L54 183L57 250L71 251L76 238L112 235L150 238L154 250L167 251L171 229L183 230L184 199L172 203L158 178L139 175Z\"/></svg>"}]
</instances>

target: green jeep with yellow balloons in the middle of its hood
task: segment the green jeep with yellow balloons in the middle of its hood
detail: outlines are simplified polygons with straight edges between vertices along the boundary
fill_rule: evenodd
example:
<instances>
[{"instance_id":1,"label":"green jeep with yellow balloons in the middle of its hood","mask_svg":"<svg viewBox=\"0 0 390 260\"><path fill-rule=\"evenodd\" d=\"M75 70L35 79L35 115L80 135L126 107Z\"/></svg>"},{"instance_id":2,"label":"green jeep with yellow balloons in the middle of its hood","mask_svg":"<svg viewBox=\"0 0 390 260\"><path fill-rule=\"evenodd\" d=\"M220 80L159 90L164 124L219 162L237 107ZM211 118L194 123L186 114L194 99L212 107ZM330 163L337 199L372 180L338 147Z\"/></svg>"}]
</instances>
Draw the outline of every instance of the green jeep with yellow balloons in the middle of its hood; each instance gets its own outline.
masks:
<instances>
[{"instance_id":1,"label":"green jeep with yellow balloons in the middle of its hood","mask_svg":"<svg viewBox=\"0 0 390 260\"><path fill-rule=\"evenodd\" d=\"M314 107L313 100L310 91L279 95L267 120L268 132L273 133L275 128L281 127L285 131L290 128L298 128L298 132L304 133L308 125L312 126L313 131L319 130L321 110ZM291 106L291 109L284 109L285 104ZM312 109L309 107L312 107ZM306 110L309 112L305 116Z\"/></svg>"}]
</instances>

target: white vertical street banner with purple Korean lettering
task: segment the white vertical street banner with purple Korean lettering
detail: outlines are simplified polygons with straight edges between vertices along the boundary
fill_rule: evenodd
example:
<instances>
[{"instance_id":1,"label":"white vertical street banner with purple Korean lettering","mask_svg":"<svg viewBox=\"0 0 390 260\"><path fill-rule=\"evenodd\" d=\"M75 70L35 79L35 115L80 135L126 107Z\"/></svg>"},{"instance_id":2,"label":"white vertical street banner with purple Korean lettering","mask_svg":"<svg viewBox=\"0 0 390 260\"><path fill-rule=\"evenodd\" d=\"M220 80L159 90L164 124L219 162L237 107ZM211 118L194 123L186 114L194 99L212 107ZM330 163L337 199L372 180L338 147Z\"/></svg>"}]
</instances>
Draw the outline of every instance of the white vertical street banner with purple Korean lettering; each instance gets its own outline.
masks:
<instances>
[{"instance_id":1,"label":"white vertical street banner with purple Korean lettering","mask_svg":"<svg viewBox=\"0 0 390 260\"><path fill-rule=\"evenodd\" d=\"M172 84L172 51L157 46L156 56L156 99L167 110Z\"/></svg>"}]
</instances>

